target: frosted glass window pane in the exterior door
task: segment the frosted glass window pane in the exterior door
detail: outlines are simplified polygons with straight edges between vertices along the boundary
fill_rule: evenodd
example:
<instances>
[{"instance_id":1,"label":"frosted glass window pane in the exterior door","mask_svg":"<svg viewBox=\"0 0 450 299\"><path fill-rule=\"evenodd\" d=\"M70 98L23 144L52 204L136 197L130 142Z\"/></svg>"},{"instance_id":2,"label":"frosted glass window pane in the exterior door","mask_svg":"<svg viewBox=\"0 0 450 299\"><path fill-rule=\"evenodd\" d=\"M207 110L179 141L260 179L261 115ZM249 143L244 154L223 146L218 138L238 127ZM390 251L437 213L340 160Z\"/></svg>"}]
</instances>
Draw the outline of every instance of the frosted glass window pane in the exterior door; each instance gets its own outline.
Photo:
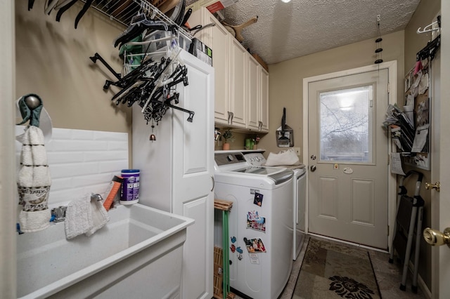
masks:
<instances>
[{"instance_id":1,"label":"frosted glass window pane in the exterior door","mask_svg":"<svg viewBox=\"0 0 450 299\"><path fill-rule=\"evenodd\" d=\"M373 163L373 86L319 93L320 161Z\"/></svg>"}]
</instances>

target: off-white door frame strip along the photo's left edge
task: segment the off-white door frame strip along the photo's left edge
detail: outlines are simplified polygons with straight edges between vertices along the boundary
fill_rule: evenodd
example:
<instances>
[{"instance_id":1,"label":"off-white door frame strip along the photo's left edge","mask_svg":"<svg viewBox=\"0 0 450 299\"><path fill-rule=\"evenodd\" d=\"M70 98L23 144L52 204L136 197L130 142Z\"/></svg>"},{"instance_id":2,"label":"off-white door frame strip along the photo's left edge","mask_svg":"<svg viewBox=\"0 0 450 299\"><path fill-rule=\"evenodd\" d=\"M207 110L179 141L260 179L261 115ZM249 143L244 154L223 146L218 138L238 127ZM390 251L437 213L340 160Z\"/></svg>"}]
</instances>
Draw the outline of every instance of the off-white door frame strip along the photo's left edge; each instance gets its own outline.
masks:
<instances>
[{"instance_id":1,"label":"off-white door frame strip along the photo's left edge","mask_svg":"<svg viewBox=\"0 0 450 299\"><path fill-rule=\"evenodd\" d=\"M15 1L0 1L0 294L16 298Z\"/></svg>"}]
</instances>

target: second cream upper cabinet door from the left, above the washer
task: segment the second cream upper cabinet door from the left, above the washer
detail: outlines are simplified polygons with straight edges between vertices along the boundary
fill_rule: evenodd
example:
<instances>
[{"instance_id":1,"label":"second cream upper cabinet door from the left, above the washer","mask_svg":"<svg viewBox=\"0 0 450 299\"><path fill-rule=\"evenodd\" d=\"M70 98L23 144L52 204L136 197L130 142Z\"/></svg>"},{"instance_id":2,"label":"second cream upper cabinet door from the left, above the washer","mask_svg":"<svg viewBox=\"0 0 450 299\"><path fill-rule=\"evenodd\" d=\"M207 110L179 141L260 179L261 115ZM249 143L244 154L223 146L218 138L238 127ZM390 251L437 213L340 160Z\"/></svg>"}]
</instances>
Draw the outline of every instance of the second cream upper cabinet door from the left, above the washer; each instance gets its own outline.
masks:
<instances>
[{"instance_id":1,"label":"second cream upper cabinet door from the left, above the washer","mask_svg":"<svg viewBox=\"0 0 450 299\"><path fill-rule=\"evenodd\" d=\"M214 55L214 53L213 53ZM245 128L247 124L247 62L248 53L236 39L231 41L230 83L231 83L231 111L233 118L230 124Z\"/></svg>"}]
</instances>

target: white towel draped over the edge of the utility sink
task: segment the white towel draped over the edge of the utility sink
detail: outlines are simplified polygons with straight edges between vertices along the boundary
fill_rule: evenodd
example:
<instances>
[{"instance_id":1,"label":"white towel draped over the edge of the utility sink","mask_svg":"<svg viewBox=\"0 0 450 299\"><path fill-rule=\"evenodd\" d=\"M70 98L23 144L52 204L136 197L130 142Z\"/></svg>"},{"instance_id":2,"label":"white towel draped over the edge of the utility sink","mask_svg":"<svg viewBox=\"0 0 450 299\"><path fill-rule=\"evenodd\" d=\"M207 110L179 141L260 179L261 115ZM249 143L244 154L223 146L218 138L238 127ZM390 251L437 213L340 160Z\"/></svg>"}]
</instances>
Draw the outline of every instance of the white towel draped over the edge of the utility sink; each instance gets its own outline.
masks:
<instances>
[{"instance_id":1,"label":"white towel draped over the edge of the utility sink","mask_svg":"<svg viewBox=\"0 0 450 299\"><path fill-rule=\"evenodd\" d=\"M91 236L110 220L103 201L91 200L91 195L70 201L65 211L65 237L72 239L80 234Z\"/></svg>"}]
</instances>

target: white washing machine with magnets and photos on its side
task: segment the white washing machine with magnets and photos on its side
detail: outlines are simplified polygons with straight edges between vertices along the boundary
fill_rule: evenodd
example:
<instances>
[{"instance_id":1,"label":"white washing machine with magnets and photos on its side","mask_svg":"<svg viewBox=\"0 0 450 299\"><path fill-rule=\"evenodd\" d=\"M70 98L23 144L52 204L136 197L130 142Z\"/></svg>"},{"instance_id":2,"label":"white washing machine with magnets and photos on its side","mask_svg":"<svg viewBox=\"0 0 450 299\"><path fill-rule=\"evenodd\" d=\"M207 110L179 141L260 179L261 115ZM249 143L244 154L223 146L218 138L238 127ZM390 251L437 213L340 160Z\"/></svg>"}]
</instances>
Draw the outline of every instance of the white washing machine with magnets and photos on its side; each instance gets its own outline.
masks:
<instances>
[{"instance_id":1,"label":"white washing machine with magnets and photos on its side","mask_svg":"<svg viewBox=\"0 0 450 299\"><path fill-rule=\"evenodd\" d=\"M233 202L230 286L251 298L278 298L293 267L293 171L249 166L241 152L214 158L214 196ZM220 239L215 233L214 241Z\"/></svg>"}]
</instances>

